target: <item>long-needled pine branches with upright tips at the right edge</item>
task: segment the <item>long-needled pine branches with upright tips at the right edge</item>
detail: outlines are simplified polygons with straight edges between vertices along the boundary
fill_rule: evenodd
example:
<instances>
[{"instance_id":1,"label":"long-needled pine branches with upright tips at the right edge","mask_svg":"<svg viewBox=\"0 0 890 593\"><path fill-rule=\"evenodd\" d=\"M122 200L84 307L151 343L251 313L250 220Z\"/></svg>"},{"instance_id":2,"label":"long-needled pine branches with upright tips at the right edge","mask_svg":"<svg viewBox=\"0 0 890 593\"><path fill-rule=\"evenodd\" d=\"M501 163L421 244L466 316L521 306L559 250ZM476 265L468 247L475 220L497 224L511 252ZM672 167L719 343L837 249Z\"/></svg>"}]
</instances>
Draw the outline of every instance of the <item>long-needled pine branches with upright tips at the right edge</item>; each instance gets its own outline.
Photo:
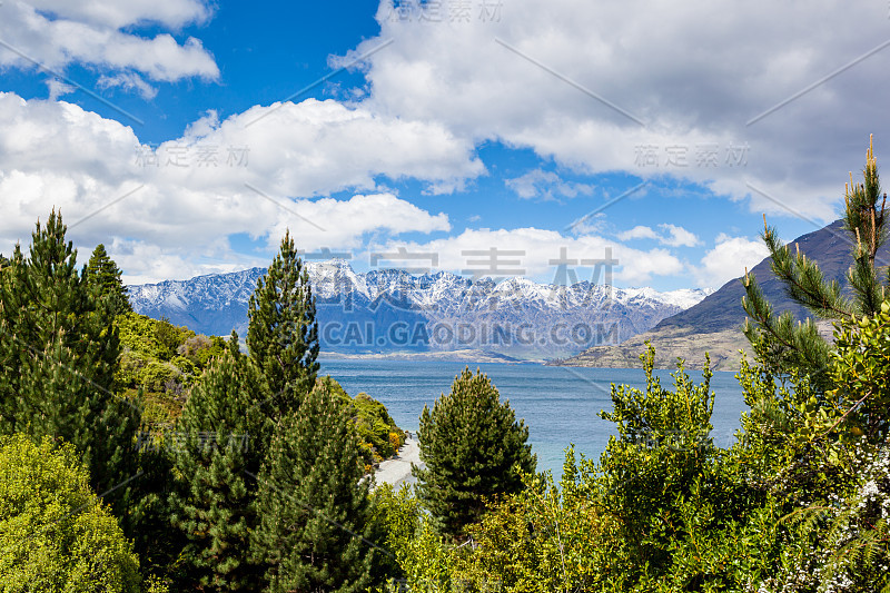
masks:
<instances>
[{"instance_id":1,"label":"long-needled pine branches with upright tips at the right edge","mask_svg":"<svg viewBox=\"0 0 890 593\"><path fill-rule=\"evenodd\" d=\"M835 280L825 280L819 265L799 249L779 240L775 228L767 226L763 218L763 241L770 250L771 269L785 285L788 296L803 305L818 319L850 319L851 316L873 317L881 312L887 298L890 277L877 265L878 249L887 241L884 207L887 194L881 197L878 165L870 140L866 155L863 181L844 185L844 229L852 245L853 265L847 271L849 294ZM884 276L884 277L882 277ZM820 392L831 387L828 368L832 362L832 346L819 335L817 325L808 318L795 323L790 313L777 315L763 296L756 280L745 273L745 296L742 306L750 319L744 333L759 353L764 367L777 374L788 374L798 368ZM753 323L750 323L753 322Z\"/></svg>"}]
</instances>

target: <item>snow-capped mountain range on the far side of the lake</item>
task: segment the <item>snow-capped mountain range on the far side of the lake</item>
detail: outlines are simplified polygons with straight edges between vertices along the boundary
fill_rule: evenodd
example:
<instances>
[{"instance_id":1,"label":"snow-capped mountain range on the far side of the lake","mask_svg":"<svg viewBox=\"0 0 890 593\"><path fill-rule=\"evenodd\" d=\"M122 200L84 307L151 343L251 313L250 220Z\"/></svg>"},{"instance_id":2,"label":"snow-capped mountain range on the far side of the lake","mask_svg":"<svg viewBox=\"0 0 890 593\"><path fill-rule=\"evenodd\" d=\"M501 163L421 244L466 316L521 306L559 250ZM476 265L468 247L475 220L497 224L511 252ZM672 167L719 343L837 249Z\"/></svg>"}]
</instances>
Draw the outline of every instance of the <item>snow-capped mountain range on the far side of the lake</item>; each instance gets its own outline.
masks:
<instances>
[{"instance_id":1,"label":"snow-capped mountain range on the far side of the lake","mask_svg":"<svg viewBox=\"0 0 890 593\"><path fill-rule=\"evenodd\" d=\"M617 344L701 302L702 289L659 293L592 283L495 283L439 271L356 273L342 259L307 263L322 349L340 355L486 353L520 360ZM129 287L134 309L209 335L247 334L247 303L264 268Z\"/></svg>"}]
</instances>

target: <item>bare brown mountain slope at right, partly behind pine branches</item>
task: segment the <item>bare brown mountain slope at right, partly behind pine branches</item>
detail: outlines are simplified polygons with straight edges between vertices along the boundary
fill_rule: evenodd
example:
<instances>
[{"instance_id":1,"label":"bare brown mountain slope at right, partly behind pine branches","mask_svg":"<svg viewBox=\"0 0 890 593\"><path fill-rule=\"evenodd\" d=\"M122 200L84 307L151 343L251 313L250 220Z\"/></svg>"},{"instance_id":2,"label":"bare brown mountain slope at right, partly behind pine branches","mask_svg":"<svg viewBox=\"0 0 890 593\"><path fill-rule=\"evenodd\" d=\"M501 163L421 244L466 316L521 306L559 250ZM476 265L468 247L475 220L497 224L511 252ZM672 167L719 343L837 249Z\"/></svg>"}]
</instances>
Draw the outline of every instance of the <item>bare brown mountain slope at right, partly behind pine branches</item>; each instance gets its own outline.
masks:
<instances>
[{"instance_id":1,"label":"bare brown mountain slope at right, partly behind pine branches","mask_svg":"<svg viewBox=\"0 0 890 593\"><path fill-rule=\"evenodd\" d=\"M797 244L797 247L794 245ZM808 258L814 259L829 280L838 280L848 290L847 270L853 263L852 245L843 223L834 223L813 233L801 235L791 241L792 249L800 248ZM878 265L890 265L890 248L878 253ZM777 313L791 312L795 318L807 318L808 312L792 302L785 294L784 285L770 269L770 258L754 266L750 274L756 278L764 296L772 303ZM656 350L656 365L673 366L676 357L683 357L690 367L701 368L704 352L711 355L712 365L718 368L736 369L741 357L739 350L748 348L748 340L741 332L746 314L742 308L744 286L741 278L723 285L698 304L671 317L666 317L650 332L641 333L615 347L595 346L563 360L572 366L634 367L639 366L639 354L651 342ZM830 335L830 324L821 324L823 333Z\"/></svg>"}]
</instances>

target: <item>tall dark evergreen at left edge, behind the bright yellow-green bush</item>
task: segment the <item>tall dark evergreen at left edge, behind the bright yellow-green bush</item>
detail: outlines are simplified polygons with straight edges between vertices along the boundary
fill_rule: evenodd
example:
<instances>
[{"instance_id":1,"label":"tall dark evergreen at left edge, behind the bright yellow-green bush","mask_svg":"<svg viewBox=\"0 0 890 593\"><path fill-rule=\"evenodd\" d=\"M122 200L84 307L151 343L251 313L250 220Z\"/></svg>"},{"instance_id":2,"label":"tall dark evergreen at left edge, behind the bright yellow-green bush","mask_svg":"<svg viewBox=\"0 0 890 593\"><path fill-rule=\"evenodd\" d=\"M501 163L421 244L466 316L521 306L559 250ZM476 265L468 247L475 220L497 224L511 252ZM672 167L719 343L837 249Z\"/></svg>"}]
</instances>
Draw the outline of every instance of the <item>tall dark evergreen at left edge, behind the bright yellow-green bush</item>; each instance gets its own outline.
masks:
<instances>
[{"instance_id":1,"label":"tall dark evergreen at left edge, behind the bright yellow-green bush","mask_svg":"<svg viewBox=\"0 0 890 593\"><path fill-rule=\"evenodd\" d=\"M0 274L0 432L72 444L91 487L122 513L136 476L140 414L111 393L119 340L107 302L77 270L53 211L28 257L17 246Z\"/></svg>"}]
</instances>

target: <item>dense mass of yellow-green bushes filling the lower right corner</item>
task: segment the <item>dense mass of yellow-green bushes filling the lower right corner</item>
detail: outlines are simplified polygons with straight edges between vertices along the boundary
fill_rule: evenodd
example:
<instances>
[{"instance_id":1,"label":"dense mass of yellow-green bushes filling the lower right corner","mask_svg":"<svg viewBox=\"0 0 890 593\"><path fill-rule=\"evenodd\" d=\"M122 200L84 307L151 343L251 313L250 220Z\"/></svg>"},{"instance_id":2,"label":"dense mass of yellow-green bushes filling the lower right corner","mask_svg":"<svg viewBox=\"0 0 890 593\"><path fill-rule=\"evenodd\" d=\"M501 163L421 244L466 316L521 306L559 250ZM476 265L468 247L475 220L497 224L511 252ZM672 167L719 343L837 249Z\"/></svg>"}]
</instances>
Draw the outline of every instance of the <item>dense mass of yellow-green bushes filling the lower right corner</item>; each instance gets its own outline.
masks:
<instances>
[{"instance_id":1,"label":"dense mass of yellow-green bushes filling the lower right corner","mask_svg":"<svg viewBox=\"0 0 890 593\"><path fill-rule=\"evenodd\" d=\"M613 386L603 417L616 434L600 463L570 448L558 485L526 474L521 491L490 500L463 545L413 511L422 500L383 493L397 517L387 543L402 581L390 589L890 591L890 447L869 438L887 419L883 392L869 389L888 369L890 304L881 310L839 327L828 395L744 360L750 412L729 449L710 438L710 373L694 385L681 364L665 389L650 348L646 388Z\"/></svg>"}]
</instances>

